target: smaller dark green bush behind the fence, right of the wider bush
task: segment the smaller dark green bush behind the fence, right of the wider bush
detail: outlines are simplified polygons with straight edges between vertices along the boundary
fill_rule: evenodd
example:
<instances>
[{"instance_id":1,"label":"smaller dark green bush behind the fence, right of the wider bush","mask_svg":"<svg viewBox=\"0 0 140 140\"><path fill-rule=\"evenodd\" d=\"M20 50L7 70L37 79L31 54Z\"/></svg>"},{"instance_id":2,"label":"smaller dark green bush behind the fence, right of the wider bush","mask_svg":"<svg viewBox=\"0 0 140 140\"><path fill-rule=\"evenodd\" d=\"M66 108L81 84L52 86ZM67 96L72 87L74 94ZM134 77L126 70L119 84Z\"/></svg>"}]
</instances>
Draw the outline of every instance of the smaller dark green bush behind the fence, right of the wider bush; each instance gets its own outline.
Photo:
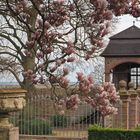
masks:
<instances>
[{"instance_id":1,"label":"smaller dark green bush behind the fence, right of the wider bush","mask_svg":"<svg viewBox=\"0 0 140 140\"><path fill-rule=\"evenodd\" d=\"M50 118L53 127L67 127L68 118L64 115L54 115Z\"/></svg>"}]
</instances>

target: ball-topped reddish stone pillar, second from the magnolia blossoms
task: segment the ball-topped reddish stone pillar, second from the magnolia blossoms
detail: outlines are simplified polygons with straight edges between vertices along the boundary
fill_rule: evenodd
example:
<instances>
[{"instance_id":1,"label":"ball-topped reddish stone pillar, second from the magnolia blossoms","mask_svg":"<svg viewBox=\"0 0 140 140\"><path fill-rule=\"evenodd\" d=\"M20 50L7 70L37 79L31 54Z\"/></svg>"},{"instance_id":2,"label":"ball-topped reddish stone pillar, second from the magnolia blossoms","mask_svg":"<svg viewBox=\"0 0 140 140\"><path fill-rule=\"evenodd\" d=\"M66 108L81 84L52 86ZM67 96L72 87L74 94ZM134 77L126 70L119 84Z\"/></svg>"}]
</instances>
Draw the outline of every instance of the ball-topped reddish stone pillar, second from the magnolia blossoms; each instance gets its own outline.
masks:
<instances>
[{"instance_id":1,"label":"ball-topped reddish stone pillar, second from the magnolia blossoms","mask_svg":"<svg viewBox=\"0 0 140 140\"><path fill-rule=\"evenodd\" d=\"M130 128L135 128L138 124L138 94L134 90L134 84L130 82L128 84L129 90L128 94L130 95Z\"/></svg>"}]
</instances>

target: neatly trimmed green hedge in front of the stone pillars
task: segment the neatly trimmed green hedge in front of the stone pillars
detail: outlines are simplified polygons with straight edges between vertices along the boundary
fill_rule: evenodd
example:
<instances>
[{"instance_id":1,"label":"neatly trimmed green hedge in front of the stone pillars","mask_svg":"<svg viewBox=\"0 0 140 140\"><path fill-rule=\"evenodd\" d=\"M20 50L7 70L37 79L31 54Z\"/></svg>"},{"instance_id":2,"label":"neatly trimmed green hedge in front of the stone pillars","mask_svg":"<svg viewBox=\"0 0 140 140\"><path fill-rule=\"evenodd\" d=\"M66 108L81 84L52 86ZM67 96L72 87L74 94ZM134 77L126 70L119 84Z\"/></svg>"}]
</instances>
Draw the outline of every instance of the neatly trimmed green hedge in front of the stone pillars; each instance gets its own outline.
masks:
<instances>
[{"instance_id":1,"label":"neatly trimmed green hedge in front of the stone pillars","mask_svg":"<svg viewBox=\"0 0 140 140\"><path fill-rule=\"evenodd\" d=\"M140 140L140 130L90 126L88 140Z\"/></svg>"}]
</instances>

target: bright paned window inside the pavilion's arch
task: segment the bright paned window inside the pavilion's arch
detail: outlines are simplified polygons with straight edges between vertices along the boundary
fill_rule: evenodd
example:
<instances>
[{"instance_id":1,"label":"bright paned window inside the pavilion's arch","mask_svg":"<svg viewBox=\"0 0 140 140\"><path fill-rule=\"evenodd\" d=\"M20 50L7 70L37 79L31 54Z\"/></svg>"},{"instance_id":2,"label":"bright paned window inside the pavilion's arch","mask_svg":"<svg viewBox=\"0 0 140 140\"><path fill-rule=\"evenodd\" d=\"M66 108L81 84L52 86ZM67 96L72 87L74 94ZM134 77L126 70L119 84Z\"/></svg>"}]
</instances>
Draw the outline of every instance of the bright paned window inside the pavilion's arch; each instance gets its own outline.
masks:
<instances>
[{"instance_id":1,"label":"bright paned window inside the pavilion's arch","mask_svg":"<svg viewBox=\"0 0 140 140\"><path fill-rule=\"evenodd\" d=\"M140 84L140 67L131 68L131 82L134 83L135 88Z\"/></svg>"}]
</instances>

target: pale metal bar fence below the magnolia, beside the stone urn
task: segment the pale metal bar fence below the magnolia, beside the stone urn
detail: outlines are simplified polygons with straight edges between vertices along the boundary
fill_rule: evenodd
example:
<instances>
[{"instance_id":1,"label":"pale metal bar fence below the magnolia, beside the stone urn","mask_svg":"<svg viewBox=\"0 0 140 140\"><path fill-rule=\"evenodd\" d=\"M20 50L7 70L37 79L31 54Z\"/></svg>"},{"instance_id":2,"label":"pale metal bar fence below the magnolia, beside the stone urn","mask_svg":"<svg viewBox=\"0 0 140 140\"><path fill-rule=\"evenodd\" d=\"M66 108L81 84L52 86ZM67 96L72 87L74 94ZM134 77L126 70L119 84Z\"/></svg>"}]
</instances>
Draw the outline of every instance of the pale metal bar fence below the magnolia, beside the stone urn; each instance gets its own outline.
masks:
<instances>
[{"instance_id":1,"label":"pale metal bar fence below the magnolia, beside the stone urn","mask_svg":"<svg viewBox=\"0 0 140 140\"><path fill-rule=\"evenodd\" d=\"M86 103L80 104L76 111L65 115L56 114L53 102L47 94L35 94L26 99L26 107L11 114L11 121L19 127L22 135L87 136L90 124L103 125L100 112Z\"/></svg>"}]
</instances>

